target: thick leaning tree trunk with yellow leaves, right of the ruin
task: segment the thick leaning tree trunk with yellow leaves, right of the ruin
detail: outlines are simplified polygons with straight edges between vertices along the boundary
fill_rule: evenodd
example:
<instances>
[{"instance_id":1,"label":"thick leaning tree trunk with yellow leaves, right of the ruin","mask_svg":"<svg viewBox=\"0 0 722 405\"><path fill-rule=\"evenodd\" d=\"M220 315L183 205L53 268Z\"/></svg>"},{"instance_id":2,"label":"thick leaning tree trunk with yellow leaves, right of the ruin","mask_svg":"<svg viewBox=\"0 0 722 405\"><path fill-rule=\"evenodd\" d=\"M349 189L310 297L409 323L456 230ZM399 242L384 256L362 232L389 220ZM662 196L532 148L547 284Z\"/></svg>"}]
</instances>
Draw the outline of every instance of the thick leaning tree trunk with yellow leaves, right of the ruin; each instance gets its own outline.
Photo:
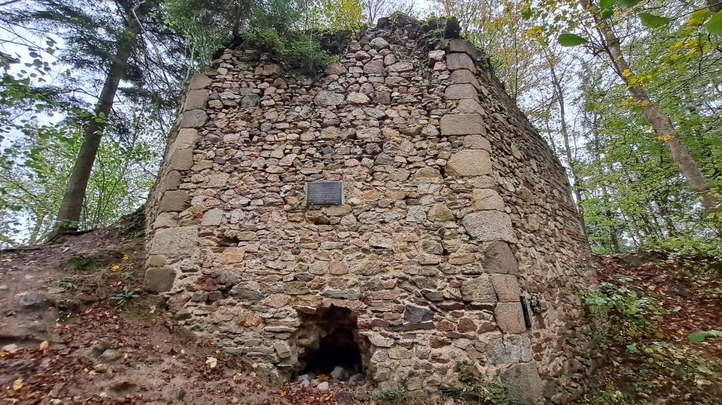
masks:
<instances>
[{"instance_id":1,"label":"thick leaning tree trunk with yellow leaves, right of the ruin","mask_svg":"<svg viewBox=\"0 0 722 405\"><path fill-rule=\"evenodd\" d=\"M583 9L588 9L589 7L587 0L580 0L580 4ZM718 228L718 230L722 230L722 218L719 218L719 214L722 213L722 204L718 197L710 192L710 185L708 184L707 179L705 179L704 174L702 174L699 166L697 166L697 162L692 159L690 152L687 151L687 148L684 146L682 141L677 138L677 129L674 128L671 119L659 111L651 102L643 86L640 84L630 86L629 79L634 77L634 74L632 73L629 63L627 63L624 55L622 55L622 49L619 46L619 38L617 38L617 35L614 34L612 27L609 27L606 20L600 19L593 10L589 10L589 12L593 15L598 30L602 37L604 37L606 51L609 53L609 58L611 58L612 63L614 64L614 69L617 71L617 75L625 82L625 84L627 84L629 92L632 95L632 99L640 104L645 104L645 109L643 111L644 117L653 126L654 130L658 133L661 139L664 139L664 143L669 149L669 153L671 153L672 160L674 160L674 163L677 164L679 172L682 173L682 176L684 177L684 182L687 183L687 186L690 187L690 189L692 189L698 197L700 197L702 206L705 210L712 214L710 216L716 228Z\"/></svg>"}]
</instances>

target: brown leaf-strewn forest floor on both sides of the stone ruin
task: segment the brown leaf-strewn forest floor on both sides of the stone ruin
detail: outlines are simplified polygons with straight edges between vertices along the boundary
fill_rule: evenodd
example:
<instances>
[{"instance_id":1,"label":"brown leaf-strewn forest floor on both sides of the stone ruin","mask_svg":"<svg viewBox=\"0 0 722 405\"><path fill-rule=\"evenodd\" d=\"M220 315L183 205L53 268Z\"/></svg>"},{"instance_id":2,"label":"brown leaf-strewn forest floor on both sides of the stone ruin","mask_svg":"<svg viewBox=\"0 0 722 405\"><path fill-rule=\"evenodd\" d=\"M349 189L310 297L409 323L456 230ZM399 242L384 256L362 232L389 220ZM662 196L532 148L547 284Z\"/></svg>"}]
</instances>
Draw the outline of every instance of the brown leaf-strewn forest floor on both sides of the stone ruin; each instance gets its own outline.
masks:
<instances>
[{"instance_id":1,"label":"brown leaf-strewn forest floor on both sides of the stone ruin","mask_svg":"<svg viewBox=\"0 0 722 405\"><path fill-rule=\"evenodd\" d=\"M722 339L701 344L687 339L694 331L720 329L718 277L690 277L686 267L658 257L600 260L601 281L616 288L623 279L627 288L656 296L658 306L679 307L653 327L684 357L680 364L696 371L673 371L670 377L666 366L660 372L625 344L600 337L609 361L586 404L645 404L645 398L650 404L719 404L704 402L704 393L722 397L715 391L719 375L709 365L719 365ZM362 387L331 383L329 391L318 391L264 380L254 365L183 333L142 293L142 264L142 236L122 227L0 252L0 405L358 404L369 399ZM635 350L644 353L646 347L638 344ZM645 355L669 360L666 352ZM713 375L703 378L700 370ZM402 396L393 399L394 405L407 403Z\"/></svg>"}]
</instances>

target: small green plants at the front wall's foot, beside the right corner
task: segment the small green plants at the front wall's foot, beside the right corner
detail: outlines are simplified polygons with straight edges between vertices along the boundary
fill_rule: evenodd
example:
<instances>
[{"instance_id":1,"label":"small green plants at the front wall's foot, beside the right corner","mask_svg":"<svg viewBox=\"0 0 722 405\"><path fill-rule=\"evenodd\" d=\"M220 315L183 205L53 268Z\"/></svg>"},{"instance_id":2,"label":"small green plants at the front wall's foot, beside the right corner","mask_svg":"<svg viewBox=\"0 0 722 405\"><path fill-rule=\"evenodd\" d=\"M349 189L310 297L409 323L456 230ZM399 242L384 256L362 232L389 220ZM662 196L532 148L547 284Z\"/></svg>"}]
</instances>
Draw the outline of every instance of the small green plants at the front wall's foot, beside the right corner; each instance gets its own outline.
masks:
<instances>
[{"instance_id":1,"label":"small green plants at the front wall's foot, beside the right corner","mask_svg":"<svg viewBox=\"0 0 722 405\"><path fill-rule=\"evenodd\" d=\"M444 396L456 396L471 399L478 404L489 405L516 405L517 401L510 399L506 393L506 384L500 377L489 378L479 373L466 361L456 363L458 380L464 384L461 388L448 388L443 391Z\"/></svg>"}]
</instances>

